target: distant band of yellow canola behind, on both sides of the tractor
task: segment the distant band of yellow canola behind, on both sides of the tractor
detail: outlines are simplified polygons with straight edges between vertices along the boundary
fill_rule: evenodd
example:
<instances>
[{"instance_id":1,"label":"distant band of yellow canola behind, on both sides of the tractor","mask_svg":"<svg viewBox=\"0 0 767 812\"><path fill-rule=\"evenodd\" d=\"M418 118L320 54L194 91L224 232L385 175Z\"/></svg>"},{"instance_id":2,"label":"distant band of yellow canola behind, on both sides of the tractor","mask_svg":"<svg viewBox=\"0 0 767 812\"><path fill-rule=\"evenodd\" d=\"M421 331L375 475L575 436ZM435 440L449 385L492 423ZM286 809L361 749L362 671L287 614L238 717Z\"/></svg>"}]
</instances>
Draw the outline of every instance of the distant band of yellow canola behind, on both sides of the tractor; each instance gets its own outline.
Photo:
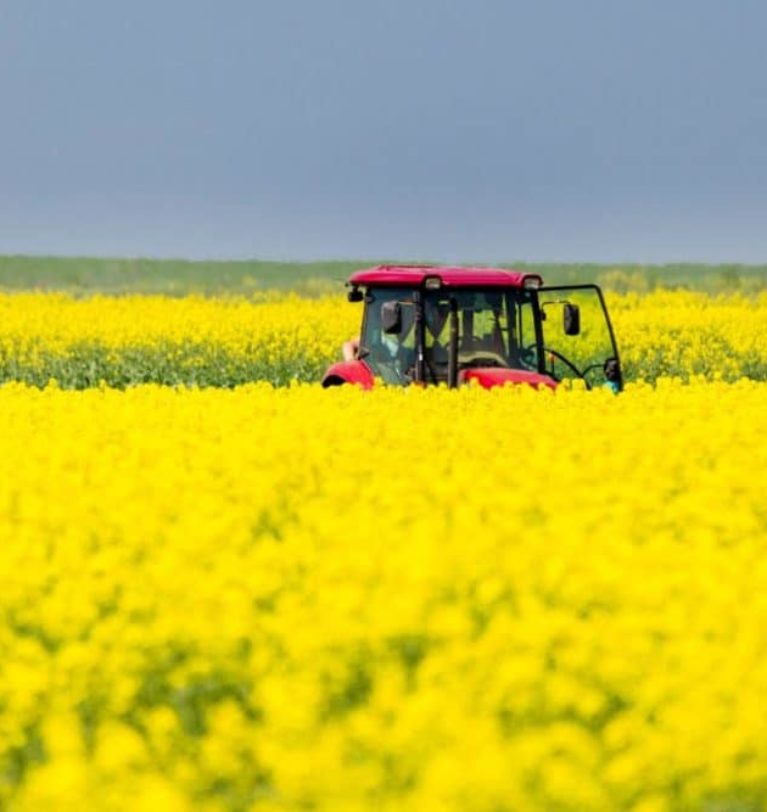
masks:
<instances>
[{"instance_id":1,"label":"distant band of yellow canola behind, on both sides of the tractor","mask_svg":"<svg viewBox=\"0 0 767 812\"><path fill-rule=\"evenodd\" d=\"M767 380L767 294L609 294L628 380ZM0 381L235 386L316 381L359 332L342 296L0 294ZM578 339L580 341L580 339Z\"/></svg>"}]
</instances>

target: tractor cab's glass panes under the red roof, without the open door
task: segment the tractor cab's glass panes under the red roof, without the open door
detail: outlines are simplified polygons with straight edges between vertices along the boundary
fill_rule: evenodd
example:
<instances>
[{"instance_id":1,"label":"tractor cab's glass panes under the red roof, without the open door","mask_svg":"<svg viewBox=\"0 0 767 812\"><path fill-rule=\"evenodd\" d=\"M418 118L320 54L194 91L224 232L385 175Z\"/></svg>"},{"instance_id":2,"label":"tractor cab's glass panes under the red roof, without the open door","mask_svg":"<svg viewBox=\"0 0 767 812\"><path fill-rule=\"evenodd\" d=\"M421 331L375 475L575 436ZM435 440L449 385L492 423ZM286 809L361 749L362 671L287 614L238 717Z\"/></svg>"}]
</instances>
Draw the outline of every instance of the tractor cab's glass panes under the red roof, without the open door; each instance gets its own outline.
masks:
<instances>
[{"instance_id":1,"label":"tractor cab's glass panes under the red roof, without the open door","mask_svg":"<svg viewBox=\"0 0 767 812\"><path fill-rule=\"evenodd\" d=\"M419 300L427 382L447 380L451 300L458 315L459 368L538 369L535 310L528 290L369 288L360 357L385 382L406 384L413 380ZM394 314L395 309L396 315L387 321L383 314Z\"/></svg>"}]
</instances>

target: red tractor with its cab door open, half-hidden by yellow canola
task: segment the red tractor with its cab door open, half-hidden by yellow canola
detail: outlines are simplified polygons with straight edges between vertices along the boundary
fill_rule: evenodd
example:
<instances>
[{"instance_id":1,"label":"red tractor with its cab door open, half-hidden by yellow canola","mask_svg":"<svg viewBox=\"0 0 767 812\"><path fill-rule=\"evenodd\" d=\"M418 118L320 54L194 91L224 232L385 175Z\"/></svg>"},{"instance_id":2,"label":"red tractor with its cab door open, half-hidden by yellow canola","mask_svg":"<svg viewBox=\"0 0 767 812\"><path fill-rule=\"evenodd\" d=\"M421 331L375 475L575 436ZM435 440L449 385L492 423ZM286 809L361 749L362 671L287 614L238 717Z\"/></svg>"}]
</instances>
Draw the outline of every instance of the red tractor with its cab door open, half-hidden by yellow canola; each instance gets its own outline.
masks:
<instances>
[{"instance_id":1,"label":"red tractor with its cab door open, half-hidden by yellow canola","mask_svg":"<svg viewBox=\"0 0 767 812\"><path fill-rule=\"evenodd\" d=\"M476 381L556 388L623 388L618 349L596 285L545 287L534 273L499 268L381 265L349 278L364 302L354 357L333 364L323 386L371 388Z\"/></svg>"}]
</instances>

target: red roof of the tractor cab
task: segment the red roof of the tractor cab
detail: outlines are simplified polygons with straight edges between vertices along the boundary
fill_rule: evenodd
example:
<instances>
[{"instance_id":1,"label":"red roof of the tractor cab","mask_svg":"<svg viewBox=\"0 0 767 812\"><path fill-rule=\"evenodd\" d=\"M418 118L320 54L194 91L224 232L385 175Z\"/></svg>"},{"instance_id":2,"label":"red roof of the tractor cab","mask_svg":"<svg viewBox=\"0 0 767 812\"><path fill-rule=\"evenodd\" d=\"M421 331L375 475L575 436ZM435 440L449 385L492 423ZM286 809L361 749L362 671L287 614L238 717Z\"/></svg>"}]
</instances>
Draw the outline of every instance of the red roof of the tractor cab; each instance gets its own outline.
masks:
<instances>
[{"instance_id":1,"label":"red roof of the tractor cab","mask_svg":"<svg viewBox=\"0 0 767 812\"><path fill-rule=\"evenodd\" d=\"M503 268L464 268L452 265L377 265L357 271L349 277L352 285L392 286L417 288L427 276L436 276L449 288L499 287L521 288L543 284L536 273L507 271Z\"/></svg>"}]
</instances>

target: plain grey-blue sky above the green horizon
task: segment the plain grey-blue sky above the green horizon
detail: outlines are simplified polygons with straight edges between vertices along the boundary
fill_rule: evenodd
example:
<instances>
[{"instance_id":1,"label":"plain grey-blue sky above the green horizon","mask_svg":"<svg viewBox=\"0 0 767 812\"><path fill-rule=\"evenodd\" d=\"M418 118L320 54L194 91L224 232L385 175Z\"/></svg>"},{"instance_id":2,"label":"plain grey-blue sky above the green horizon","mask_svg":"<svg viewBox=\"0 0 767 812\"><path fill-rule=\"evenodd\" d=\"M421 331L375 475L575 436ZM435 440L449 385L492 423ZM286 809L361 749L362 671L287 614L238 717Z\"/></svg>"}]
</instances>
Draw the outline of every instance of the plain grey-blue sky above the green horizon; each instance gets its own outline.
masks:
<instances>
[{"instance_id":1,"label":"plain grey-blue sky above the green horizon","mask_svg":"<svg viewBox=\"0 0 767 812\"><path fill-rule=\"evenodd\" d=\"M2 0L0 254L767 263L762 0Z\"/></svg>"}]
</instances>

